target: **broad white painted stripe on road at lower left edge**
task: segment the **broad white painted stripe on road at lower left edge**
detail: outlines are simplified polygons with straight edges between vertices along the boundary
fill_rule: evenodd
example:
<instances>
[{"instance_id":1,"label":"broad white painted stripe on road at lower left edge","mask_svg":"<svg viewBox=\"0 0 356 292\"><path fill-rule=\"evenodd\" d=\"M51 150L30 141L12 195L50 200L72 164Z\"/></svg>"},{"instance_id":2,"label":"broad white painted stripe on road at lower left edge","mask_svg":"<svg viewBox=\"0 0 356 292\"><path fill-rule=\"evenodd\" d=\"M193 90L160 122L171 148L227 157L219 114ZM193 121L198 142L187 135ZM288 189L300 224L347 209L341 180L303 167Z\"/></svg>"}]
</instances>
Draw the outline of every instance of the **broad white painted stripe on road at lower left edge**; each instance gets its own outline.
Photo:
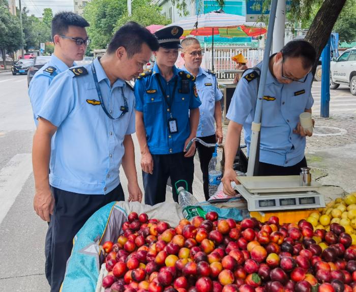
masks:
<instances>
[{"instance_id":1,"label":"broad white painted stripe on road at lower left edge","mask_svg":"<svg viewBox=\"0 0 356 292\"><path fill-rule=\"evenodd\" d=\"M32 172L31 153L16 154L0 170L0 224Z\"/></svg>"}]
</instances>

